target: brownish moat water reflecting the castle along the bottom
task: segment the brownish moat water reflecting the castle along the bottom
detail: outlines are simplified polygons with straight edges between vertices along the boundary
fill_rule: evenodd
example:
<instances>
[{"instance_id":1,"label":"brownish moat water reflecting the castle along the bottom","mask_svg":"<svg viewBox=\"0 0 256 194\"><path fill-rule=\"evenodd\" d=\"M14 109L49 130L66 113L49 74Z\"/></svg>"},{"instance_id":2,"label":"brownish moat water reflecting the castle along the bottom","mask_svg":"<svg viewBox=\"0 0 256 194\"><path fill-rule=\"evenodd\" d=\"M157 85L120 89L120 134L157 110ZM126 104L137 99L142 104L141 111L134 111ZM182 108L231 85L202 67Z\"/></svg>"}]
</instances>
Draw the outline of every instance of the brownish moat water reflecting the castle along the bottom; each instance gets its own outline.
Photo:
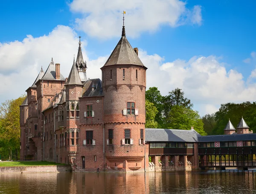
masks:
<instances>
[{"instance_id":1,"label":"brownish moat water reflecting the castle along the bottom","mask_svg":"<svg viewBox=\"0 0 256 194\"><path fill-rule=\"evenodd\" d=\"M256 194L256 171L0 174L0 194Z\"/></svg>"}]
</instances>

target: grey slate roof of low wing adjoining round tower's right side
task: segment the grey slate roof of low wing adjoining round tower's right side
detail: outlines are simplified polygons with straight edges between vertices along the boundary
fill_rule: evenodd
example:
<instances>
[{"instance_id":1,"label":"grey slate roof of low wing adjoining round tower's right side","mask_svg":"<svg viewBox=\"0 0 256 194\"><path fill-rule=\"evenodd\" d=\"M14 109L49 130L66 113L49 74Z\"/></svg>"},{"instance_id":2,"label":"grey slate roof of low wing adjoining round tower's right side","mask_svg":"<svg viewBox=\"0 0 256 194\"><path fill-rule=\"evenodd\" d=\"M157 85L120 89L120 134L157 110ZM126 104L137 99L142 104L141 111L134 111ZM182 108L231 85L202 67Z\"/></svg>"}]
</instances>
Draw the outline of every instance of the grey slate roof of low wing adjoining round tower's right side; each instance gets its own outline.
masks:
<instances>
[{"instance_id":1,"label":"grey slate roof of low wing adjoining round tower's right side","mask_svg":"<svg viewBox=\"0 0 256 194\"><path fill-rule=\"evenodd\" d=\"M201 135L194 129L151 129L145 128L145 141L198 142Z\"/></svg>"}]
</instances>

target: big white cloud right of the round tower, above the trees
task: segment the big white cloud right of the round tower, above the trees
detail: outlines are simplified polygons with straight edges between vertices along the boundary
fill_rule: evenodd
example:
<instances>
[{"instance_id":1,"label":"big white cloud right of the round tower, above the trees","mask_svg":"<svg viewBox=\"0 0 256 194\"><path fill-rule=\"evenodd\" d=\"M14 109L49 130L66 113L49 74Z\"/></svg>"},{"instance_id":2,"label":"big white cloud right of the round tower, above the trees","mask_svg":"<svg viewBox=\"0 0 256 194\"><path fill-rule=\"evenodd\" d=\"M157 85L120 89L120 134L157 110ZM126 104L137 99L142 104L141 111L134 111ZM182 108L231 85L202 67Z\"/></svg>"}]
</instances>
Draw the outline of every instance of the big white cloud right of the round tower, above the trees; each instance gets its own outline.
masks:
<instances>
[{"instance_id":1,"label":"big white cloud right of the round tower, above the trees","mask_svg":"<svg viewBox=\"0 0 256 194\"><path fill-rule=\"evenodd\" d=\"M139 53L148 67L147 88L158 87L162 95L167 95L179 87L201 115L215 112L223 103L255 100L256 84L248 80L256 77L256 70L244 81L241 73L227 71L216 56L194 56L188 62L177 59L164 63L157 54Z\"/></svg>"}]
</instances>

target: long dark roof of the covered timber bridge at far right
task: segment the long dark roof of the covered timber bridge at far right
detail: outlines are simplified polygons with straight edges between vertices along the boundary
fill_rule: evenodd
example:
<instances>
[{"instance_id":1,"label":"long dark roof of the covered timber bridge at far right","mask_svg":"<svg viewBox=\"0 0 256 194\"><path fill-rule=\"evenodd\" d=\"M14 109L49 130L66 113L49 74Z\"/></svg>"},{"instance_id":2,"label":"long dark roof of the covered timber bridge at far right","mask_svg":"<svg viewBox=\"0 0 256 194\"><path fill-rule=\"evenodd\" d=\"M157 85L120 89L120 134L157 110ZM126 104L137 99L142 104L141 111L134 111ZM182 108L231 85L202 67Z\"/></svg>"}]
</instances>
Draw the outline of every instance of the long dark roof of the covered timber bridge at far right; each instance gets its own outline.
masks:
<instances>
[{"instance_id":1,"label":"long dark roof of the covered timber bridge at far right","mask_svg":"<svg viewBox=\"0 0 256 194\"><path fill-rule=\"evenodd\" d=\"M198 142L214 141L249 141L256 140L256 133L232 135L207 135L198 137Z\"/></svg>"}]
</instances>

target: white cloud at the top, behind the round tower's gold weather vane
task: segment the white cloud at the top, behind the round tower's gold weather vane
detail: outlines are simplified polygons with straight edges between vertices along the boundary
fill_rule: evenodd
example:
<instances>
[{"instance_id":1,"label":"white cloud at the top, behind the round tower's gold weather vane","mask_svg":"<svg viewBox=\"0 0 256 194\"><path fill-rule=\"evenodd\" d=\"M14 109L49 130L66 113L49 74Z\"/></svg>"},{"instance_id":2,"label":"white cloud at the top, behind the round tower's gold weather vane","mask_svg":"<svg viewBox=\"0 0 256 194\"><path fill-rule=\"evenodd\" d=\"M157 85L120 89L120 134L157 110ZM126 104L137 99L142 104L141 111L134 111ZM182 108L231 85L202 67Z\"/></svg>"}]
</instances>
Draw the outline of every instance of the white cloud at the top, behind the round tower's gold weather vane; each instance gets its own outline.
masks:
<instances>
[{"instance_id":1,"label":"white cloud at the top, behind the round tower's gold weather vane","mask_svg":"<svg viewBox=\"0 0 256 194\"><path fill-rule=\"evenodd\" d=\"M76 18L77 29L100 39L121 34L122 10L125 26L131 37L145 31L154 32L161 25L201 25L201 6L189 9L181 0L73 0L70 10L82 14Z\"/></svg>"}]
</instances>

